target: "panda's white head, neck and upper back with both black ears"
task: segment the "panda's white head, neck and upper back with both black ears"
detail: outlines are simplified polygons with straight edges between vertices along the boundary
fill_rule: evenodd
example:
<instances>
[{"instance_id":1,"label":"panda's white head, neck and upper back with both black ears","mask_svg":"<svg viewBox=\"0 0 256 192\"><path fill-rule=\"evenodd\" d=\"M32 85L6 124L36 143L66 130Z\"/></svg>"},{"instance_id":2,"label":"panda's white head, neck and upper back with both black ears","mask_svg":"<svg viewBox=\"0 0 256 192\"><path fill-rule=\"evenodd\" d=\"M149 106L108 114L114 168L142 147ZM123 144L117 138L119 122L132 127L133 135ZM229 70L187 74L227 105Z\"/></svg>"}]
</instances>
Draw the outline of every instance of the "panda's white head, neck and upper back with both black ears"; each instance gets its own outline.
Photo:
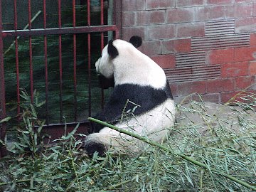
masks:
<instances>
[{"instance_id":1,"label":"panda's white head, neck and upper back with both black ears","mask_svg":"<svg viewBox=\"0 0 256 192\"><path fill-rule=\"evenodd\" d=\"M102 50L102 57L95 63L97 73L113 79L114 85L163 88L166 84L164 70L137 49L141 45L142 38L139 36L132 36L129 42L121 39L109 41Z\"/></svg>"}]
</instances>

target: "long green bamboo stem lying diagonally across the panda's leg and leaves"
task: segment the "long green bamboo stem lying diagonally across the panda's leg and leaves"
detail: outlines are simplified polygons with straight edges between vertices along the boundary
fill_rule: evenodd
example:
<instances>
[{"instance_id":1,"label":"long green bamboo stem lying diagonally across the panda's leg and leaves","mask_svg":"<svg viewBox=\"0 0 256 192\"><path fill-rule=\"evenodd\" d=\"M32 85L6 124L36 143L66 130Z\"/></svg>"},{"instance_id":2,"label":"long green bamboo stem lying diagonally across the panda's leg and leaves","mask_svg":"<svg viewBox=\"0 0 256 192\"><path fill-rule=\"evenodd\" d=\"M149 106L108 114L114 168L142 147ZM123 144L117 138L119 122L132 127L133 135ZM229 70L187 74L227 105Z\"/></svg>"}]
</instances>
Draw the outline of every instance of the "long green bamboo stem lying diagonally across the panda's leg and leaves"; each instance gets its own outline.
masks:
<instances>
[{"instance_id":1,"label":"long green bamboo stem lying diagonally across the panda's leg and leaves","mask_svg":"<svg viewBox=\"0 0 256 192\"><path fill-rule=\"evenodd\" d=\"M211 172L214 172L215 174L218 174L218 175L221 175L221 176L224 176L225 178L228 178L230 179L231 181L234 181L235 183L239 183L240 185L242 186L245 186L246 188L250 188L252 189L253 191L256 191L256 188L252 185L250 185L249 183L246 183L245 181L241 181L239 180L238 178L235 178L233 176L230 176L228 174L225 174L223 172L220 172L218 171L217 169L214 169L214 168L210 168L209 166L207 166L206 164L203 164L201 163L200 161L196 161L195 159L192 159L191 157L189 156L186 156L184 154L177 154L177 153L174 153L173 151L171 151L171 149L169 149L168 147L166 146L163 146L157 142L154 142L154 141L151 141L150 139L147 139L146 137L142 137L140 136L139 134L134 134L132 132L129 132L125 129L120 129L118 127L115 127L114 125L112 124L108 124L107 122L102 122L98 119L95 119L95 118L92 118L92 117L89 117L88 118L90 121L92 122L96 122L98 124L102 124L103 126L105 127L109 127L110 129L114 129L116 130L117 132L120 132L120 133L123 133L123 134L127 134L131 137L134 137L134 138L137 138L139 140L141 140L142 142L146 142L147 144L150 144L151 146L157 146L159 147L160 149L163 149L164 151L169 151L171 152L171 154L174 154L176 156L180 156L182 159L186 159L187 161L191 162L192 164L196 164L197 166L200 166L202 167L203 169L208 169L208 171L211 171Z\"/></svg>"}]
</instances>

